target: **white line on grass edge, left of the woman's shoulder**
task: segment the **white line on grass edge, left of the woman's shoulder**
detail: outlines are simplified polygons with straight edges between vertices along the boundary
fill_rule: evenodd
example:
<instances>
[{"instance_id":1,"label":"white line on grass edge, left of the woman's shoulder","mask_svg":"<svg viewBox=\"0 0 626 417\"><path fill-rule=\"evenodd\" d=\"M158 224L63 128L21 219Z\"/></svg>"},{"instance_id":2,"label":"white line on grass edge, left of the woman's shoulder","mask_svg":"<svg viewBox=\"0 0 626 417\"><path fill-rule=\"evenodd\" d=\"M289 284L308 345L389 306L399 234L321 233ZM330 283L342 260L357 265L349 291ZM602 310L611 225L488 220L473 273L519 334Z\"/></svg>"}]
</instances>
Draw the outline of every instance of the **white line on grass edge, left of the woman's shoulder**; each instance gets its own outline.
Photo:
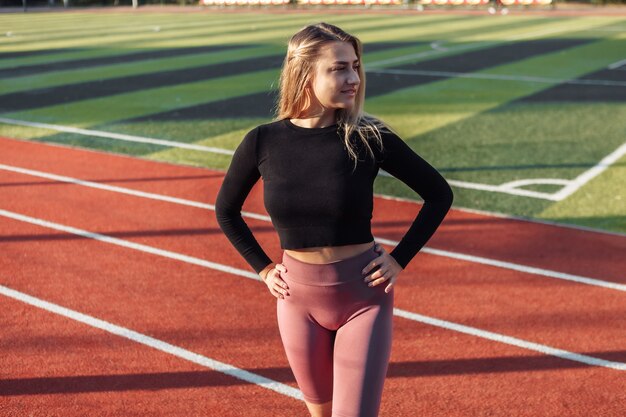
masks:
<instances>
[{"instance_id":1,"label":"white line on grass edge, left of the woman's shoulder","mask_svg":"<svg viewBox=\"0 0 626 417\"><path fill-rule=\"evenodd\" d=\"M213 152L213 153L220 153L224 155L234 154L234 151L231 151L228 149L195 145L193 143L175 142L175 141L170 141L170 140L147 138L144 136L125 135L122 133L103 132L101 130L80 129L77 127L53 125L53 124L48 124L48 123L27 122L24 120L8 119L5 117L0 117L0 123L5 123L9 125L27 126L27 127L38 127L42 129L55 130L57 132L75 133L77 135L95 136L95 137L100 137L100 138L123 140L127 142L150 143L152 145L170 146L173 148L191 149L194 151L203 151L203 152Z\"/></svg>"}]
</instances>

